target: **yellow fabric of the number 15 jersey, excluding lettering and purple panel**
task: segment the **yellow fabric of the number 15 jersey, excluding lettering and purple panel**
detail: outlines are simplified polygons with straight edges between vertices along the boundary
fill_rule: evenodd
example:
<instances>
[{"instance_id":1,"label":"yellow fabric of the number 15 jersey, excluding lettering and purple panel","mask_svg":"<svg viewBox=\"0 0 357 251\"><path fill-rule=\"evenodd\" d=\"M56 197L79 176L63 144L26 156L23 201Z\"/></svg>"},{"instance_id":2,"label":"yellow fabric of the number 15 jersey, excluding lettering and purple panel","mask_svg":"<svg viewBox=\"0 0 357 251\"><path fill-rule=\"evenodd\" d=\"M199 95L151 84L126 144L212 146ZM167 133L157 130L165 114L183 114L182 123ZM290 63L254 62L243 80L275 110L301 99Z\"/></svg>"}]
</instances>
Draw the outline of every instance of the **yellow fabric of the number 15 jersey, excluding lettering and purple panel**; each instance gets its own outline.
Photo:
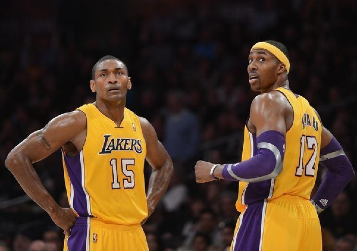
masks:
<instances>
[{"instance_id":1,"label":"yellow fabric of the number 15 jersey, excluding lettering and purple panel","mask_svg":"<svg viewBox=\"0 0 357 251\"><path fill-rule=\"evenodd\" d=\"M147 217L144 183L146 143L139 117L125 108L124 119L120 127L117 127L114 121L102 114L94 104L83 105L77 110L84 112L87 117L87 136L82 154L85 170L84 186L89 195L91 215L103 222L121 225L139 224ZM110 135L106 144L104 135ZM103 149L108 147L110 149L111 139L112 147L117 144L117 139L129 140L121 143L121 150L100 154ZM135 146L130 145L130 142L134 142L130 139L141 141L141 148L136 144L139 150L142 150L140 153L135 151ZM132 150L127 150L130 148ZM124 166L121 160L124 160ZM134 160L134 165L126 165L125 160L131 162ZM133 188L125 188L124 182L132 182L130 176L124 175L125 167L129 172L134 172ZM70 200L71 186L65 163L64 170L67 196ZM113 188L114 171L117 173L116 184L119 183L120 188Z\"/></svg>"}]
</instances>

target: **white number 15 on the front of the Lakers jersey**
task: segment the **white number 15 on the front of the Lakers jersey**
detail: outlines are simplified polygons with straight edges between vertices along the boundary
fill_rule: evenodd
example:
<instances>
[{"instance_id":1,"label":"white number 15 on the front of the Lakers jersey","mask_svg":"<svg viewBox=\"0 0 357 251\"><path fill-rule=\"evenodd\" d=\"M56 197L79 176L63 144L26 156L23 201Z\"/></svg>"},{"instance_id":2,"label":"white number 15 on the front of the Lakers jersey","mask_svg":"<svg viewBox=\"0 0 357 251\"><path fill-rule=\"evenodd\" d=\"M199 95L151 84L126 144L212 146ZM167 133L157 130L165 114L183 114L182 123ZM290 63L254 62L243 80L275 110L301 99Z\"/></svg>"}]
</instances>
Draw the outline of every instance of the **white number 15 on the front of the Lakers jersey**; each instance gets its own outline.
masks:
<instances>
[{"instance_id":1,"label":"white number 15 on the front of the Lakers jersey","mask_svg":"<svg viewBox=\"0 0 357 251\"><path fill-rule=\"evenodd\" d=\"M134 159L121 159L121 171L128 179L123 179L124 189L134 188L135 180L134 180L134 172L127 169L127 166L134 166L135 160ZM113 182L112 182L112 189L120 189L120 183L118 181L118 167L117 167L117 159L111 159L110 165L113 171Z\"/></svg>"}]
</instances>

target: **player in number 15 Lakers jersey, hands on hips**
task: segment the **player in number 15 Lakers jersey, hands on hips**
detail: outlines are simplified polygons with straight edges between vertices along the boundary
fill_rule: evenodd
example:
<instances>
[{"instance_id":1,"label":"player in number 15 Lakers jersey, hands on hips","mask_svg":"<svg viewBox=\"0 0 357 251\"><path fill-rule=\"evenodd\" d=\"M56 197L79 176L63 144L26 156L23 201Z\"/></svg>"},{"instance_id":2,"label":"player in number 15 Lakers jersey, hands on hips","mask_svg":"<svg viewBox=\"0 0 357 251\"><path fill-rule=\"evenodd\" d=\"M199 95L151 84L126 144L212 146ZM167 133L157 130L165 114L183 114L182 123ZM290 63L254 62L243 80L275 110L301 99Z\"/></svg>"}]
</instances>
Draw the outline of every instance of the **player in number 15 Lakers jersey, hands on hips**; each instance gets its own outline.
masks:
<instances>
[{"instance_id":1,"label":"player in number 15 Lakers jersey, hands on hips","mask_svg":"<svg viewBox=\"0 0 357 251\"><path fill-rule=\"evenodd\" d=\"M5 165L65 231L65 251L149 250L141 224L169 184L171 159L152 125L125 107L131 81L122 61L100 59L90 88L93 104L55 117L16 146ZM32 167L60 147L70 209L57 205ZM145 159L153 168L147 195Z\"/></svg>"}]
</instances>

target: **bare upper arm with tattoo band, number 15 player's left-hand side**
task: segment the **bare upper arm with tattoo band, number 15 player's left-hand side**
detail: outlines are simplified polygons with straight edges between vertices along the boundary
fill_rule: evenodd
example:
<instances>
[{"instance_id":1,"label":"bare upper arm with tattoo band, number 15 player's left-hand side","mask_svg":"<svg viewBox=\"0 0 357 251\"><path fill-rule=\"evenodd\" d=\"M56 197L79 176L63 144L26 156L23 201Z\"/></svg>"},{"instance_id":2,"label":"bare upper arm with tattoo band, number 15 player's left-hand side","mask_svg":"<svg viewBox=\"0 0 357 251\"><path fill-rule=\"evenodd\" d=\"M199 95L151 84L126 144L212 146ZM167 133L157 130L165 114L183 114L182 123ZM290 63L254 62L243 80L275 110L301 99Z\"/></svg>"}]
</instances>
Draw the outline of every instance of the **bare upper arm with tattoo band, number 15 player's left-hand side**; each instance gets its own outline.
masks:
<instances>
[{"instance_id":1,"label":"bare upper arm with tattoo band, number 15 player's left-hand side","mask_svg":"<svg viewBox=\"0 0 357 251\"><path fill-rule=\"evenodd\" d=\"M82 114L82 112L80 112ZM44 128L30 134L9 155L27 157L31 163L40 161L58 150L85 129L84 114L70 112L52 119Z\"/></svg>"}]
</instances>

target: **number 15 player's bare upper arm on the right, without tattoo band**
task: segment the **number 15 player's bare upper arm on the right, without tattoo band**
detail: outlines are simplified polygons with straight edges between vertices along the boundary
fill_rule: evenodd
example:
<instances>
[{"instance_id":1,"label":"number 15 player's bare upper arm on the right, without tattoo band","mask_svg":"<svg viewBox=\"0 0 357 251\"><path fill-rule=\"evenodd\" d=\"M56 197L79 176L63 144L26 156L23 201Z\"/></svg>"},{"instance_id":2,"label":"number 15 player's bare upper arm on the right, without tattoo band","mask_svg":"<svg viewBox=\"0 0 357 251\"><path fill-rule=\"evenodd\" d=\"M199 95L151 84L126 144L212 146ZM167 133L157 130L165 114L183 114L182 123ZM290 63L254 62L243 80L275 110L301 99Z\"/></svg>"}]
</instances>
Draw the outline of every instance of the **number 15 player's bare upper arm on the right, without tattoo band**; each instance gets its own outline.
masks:
<instances>
[{"instance_id":1,"label":"number 15 player's bare upper arm on the right, without tattoo band","mask_svg":"<svg viewBox=\"0 0 357 251\"><path fill-rule=\"evenodd\" d=\"M146 160L153 169L160 168L166 160L170 160L170 156L157 139L154 127L144 118L140 118L140 122L146 142Z\"/></svg>"}]
</instances>

